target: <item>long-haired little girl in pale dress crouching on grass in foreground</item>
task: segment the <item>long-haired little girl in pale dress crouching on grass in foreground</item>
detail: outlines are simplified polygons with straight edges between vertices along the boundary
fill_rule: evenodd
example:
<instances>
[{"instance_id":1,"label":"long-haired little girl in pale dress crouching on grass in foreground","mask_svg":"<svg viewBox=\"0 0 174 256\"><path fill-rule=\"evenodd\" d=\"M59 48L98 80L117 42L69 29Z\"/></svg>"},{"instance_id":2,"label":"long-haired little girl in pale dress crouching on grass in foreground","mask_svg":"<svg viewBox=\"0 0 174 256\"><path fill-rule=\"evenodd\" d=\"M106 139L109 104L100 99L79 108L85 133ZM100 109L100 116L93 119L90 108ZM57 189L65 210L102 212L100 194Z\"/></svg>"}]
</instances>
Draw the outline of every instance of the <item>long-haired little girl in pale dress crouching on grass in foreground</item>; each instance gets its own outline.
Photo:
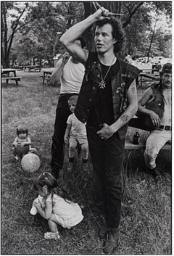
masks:
<instances>
[{"instance_id":1,"label":"long-haired little girl in pale dress crouching on grass in foreground","mask_svg":"<svg viewBox=\"0 0 174 256\"><path fill-rule=\"evenodd\" d=\"M34 200L33 206L43 218L48 220L51 231L44 234L45 239L59 239L57 224L70 229L83 220L80 206L72 202L67 191L58 186L57 180L51 173L40 174L34 181L34 189L43 199L42 202Z\"/></svg>"}]
</instances>

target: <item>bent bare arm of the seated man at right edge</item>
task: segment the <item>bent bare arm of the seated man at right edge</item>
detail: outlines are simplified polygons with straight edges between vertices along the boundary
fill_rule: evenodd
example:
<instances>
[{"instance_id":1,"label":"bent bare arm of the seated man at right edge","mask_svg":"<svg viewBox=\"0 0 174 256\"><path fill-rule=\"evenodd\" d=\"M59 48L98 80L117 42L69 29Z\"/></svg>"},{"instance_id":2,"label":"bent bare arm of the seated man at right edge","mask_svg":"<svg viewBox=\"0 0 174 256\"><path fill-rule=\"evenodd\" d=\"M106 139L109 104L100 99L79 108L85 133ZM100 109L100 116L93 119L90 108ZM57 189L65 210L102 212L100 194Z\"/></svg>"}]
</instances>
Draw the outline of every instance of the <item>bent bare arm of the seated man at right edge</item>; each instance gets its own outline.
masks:
<instances>
[{"instance_id":1,"label":"bent bare arm of the seated man at right edge","mask_svg":"<svg viewBox=\"0 0 174 256\"><path fill-rule=\"evenodd\" d=\"M151 102L153 100L154 100L153 91L152 91L152 88L149 87L146 89L146 91L144 92L144 95L141 97L141 99L138 102L138 112L144 115L149 115L153 125L158 127L160 125L159 115L157 115L152 110L147 110L145 107L147 102Z\"/></svg>"}]
</instances>

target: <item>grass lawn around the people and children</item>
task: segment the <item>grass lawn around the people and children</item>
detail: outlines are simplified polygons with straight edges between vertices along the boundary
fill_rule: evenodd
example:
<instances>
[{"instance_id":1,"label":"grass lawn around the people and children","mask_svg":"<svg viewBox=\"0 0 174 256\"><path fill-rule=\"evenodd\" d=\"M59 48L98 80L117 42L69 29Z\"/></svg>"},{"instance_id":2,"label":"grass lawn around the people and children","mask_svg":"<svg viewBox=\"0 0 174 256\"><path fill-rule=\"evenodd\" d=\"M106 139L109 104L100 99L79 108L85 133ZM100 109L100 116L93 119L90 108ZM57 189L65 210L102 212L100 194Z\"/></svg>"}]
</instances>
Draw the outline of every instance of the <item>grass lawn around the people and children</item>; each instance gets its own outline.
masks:
<instances>
[{"instance_id":1,"label":"grass lawn around the people and children","mask_svg":"<svg viewBox=\"0 0 174 256\"><path fill-rule=\"evenodd\" d=\"M49 241L43 234L49 231L47 221L30 215L37 192L33 178L50 171L51 136L59 96L59 88L42 84L41 73L18 71L20 86L9 81L1 87L1 254L74 254L100 255L103 241L98 229L103 215L96 193L94 173L89 161L88 184L83 182L80 162L65 185L83 205L83 221L70 230L60 228L59 241ZM138 91L141 95L142 91ZM41 168L33 174L22 170L20 162L11 162L12 142L18 125L28 126L31 141L41 158ZM132 131L128 131L133 136ZM144 156L140 150L125 154L125 200L121 219L118 255L171 254L171 155L159 153L157 167L162 178L157 183L144 173Z\"/></svg>"}]
</instances>

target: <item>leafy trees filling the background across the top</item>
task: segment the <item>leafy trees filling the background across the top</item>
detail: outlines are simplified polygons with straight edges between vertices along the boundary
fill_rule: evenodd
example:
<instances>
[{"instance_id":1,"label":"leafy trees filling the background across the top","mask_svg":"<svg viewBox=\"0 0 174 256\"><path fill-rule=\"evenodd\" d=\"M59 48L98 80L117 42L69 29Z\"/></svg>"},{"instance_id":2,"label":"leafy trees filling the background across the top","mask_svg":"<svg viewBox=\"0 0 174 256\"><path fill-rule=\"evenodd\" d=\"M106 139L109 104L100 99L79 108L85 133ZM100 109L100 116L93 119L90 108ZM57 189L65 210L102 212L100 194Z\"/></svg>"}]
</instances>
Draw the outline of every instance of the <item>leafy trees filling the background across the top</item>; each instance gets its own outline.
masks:
<instances>
[{"instance_id":1,"label":"leafy trees filling the background across the top","mask_svg":"<svg viewBox=\"0 0 174 256\"><path fill-rule=\"evenodd\" d=\"M120 14L116 17L123 23L127 41L120 53L136 56L149 56L171 49L170 32L159 33L153 30L152 13L165 15L171 21L171 2L162 1L101 1L102 7ZM59 2L9 2L1 1L1 63L9 66L9 59L25 62L25 59L47 59L51 65L57 53L65 51L59 37L66 29L95 12L91 1ZM88 49L92 49L92 28L83 36ZM14 40L15 39L15 40ZM167 44L165 44L167 40Z\"/></svg>"}]
</instances>

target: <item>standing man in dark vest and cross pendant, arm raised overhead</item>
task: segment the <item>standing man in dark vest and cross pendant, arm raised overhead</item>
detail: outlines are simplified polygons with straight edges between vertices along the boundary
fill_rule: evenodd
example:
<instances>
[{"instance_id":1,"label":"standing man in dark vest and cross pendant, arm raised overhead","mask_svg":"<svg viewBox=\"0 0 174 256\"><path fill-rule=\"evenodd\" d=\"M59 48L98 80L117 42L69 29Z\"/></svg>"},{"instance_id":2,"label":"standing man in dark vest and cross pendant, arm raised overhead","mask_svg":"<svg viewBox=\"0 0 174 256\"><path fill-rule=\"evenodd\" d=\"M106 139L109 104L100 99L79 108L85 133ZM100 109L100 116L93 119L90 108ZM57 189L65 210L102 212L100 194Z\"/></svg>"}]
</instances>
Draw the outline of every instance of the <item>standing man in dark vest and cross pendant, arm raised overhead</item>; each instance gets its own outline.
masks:
<instances>
[{"instance_id":1,"label":"standing man in dark vest and cross pendant, arm raised overhead","mask_svg":"<svg viewBox=\"0 0 174 256\"><path fill-rule=\"evenodd\" d=\"M75 115L86 123L91 161L103 192L105 222L99 236L107 238L104 252L111 254L119 239L125 134L128 121L138 110L136 78L140 70L116 56L124 34L120 22L108 15L101 7L67 30L60 41L86 66ZM83 50L75 45L75 39L94 23L96 51Z\"/></svg>"}]
</instances>

